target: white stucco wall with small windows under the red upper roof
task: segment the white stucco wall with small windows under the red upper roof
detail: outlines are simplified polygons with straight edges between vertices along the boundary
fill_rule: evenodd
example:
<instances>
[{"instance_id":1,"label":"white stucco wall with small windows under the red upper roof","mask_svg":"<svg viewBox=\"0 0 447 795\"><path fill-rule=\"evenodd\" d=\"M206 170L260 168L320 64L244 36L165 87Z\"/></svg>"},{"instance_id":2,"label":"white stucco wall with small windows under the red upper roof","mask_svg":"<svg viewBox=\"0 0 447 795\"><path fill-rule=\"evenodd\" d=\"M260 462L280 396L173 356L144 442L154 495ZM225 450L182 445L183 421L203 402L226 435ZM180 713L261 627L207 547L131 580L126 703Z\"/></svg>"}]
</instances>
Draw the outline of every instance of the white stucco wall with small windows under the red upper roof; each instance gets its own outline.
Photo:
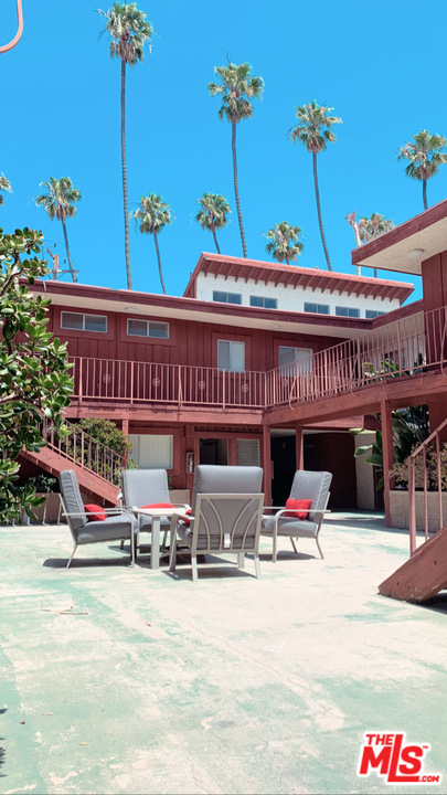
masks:
<instances>
[{"instance_id":1,"label":"white stucco wall with small windows under the red upper roof","mask_svg":"<svg viewBox=\"0 0 447 795\"><path fill-rule=\"evenodd\" d=\"M397 309L400 306L398 299L394 298L365 298L363 295L354 296L348 295L347 293L329 293L329 290L321 290L319 288L312 290L310 287L307 289L292 285L274 285L264 284L264 282L255 283L254 279L248 279L245 284L244 279L235 279L232 276L225 279L224 276L214 274L199 274L196 282L196 297L200 300L212 301L213 290L222 290L224 293L240 293L242 295L242 305L249 306L251 296L262 296L267 298L277 298L278 309L284 311L304 311L305 301L312 304L327 304L329 305L329 314L336 315L336 307L355 307L360 309L360 317L365 317L366 309L373 309L375 311L391 311Z\"/></svg>"}]
</instances>

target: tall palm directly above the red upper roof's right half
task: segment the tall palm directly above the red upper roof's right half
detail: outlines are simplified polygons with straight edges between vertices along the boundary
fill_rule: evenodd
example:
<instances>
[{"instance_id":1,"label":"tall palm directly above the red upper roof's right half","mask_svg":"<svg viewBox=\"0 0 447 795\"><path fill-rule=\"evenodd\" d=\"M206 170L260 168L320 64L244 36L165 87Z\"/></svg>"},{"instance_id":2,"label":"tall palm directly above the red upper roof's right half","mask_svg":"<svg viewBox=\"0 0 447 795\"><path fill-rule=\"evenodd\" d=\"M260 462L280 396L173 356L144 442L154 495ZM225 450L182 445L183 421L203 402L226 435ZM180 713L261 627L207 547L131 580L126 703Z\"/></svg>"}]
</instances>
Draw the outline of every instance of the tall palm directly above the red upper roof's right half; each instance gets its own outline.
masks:
<instances>
[{"instance_id":1,"label":"tall palm directly above the red upper roof's right half","mask_svg":"<svg viewBox=\"0 0 447 795\"><path fill-rule=\"evenodd\" d=\"M302 144L312 155L318 223L320 225L321 242L324 250L326 262L328 263L328 271L332 271L332 265L329 258L321 219L320 191L318 188L317 174L317 155L326 149L328 141L330 144L334 144L337 140L331 127L334 124L341 124L341 118L338 118L338 116L328 116L330 110L333 110L333 108L327 107L326 105L317 105L315 99L309 103L309 105L301 105L300 107L297 107L298 124L290 130L290 137L294 144L296 140L299 140L300 144Z\"/></svg>"}]
</instances>

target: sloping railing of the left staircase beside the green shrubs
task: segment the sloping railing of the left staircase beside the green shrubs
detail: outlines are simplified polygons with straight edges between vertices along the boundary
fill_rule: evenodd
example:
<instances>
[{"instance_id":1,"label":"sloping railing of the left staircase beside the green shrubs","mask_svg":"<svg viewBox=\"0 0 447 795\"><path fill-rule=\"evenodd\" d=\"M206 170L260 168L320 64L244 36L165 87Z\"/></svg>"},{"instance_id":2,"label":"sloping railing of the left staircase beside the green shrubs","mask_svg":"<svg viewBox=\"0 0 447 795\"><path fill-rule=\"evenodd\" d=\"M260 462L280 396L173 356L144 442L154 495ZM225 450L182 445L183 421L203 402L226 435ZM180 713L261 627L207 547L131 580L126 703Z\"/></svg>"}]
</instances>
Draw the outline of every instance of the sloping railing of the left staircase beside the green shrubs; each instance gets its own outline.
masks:
<instances>
[{"instance_id":1,"label":"sloping railing of the left staircase beside the green shrubs","mask_svg":"<svg viewBox=\"0 0 447 795\"><path fill-rule=\"evenodd\" d=\"M127 458L79 430L75 424L65 423L68 434L56 435L52 425L44 421L42 438L46 447L83 469L97 475L114 486L119 486L120 473L127 467Z\"/></svg>"}]
</instances>

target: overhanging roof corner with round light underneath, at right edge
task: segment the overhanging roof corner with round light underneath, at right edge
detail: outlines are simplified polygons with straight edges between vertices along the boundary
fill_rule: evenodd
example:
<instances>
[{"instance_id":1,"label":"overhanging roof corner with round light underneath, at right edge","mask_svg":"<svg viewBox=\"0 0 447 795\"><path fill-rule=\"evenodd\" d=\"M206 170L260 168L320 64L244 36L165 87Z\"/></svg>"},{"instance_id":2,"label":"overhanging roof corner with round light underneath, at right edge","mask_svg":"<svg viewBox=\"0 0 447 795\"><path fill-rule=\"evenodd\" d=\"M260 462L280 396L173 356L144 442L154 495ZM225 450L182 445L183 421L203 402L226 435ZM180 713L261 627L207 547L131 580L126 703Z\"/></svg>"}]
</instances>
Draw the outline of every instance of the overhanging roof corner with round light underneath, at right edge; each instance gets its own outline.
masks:
<instances>
[{"instance_id":1,"label":"overhanging roof corner with round light underneath, at right edge","mask_svg":"<svg viewBox=\"0 0 447 795\"><path fill-rule=\"evenodd\" d=\"M421 276L424 259L443 251L447 251L447 199L354 248L352 264Z\"/></svg>"}]
</instances>

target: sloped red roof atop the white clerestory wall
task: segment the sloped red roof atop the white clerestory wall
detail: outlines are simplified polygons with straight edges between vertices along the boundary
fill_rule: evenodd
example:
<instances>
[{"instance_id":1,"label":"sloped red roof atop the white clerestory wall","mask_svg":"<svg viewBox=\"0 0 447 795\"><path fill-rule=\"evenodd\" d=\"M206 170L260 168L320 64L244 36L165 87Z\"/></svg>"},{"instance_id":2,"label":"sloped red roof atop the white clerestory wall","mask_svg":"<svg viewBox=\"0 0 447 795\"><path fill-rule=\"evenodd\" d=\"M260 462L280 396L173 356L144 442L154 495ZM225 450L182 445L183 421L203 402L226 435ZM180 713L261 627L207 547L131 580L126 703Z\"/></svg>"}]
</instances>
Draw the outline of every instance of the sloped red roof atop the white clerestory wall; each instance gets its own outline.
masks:
<instances>
[{"instance_id":1,"label":"sloped red roof atop the white clerestory wall","mask_svg":"<svg viewBox=\"0 0 447 795\"><path fill-rule=\"evenodd\" d=\"M330 293L344 293L345 295L363 295L371 298L398 299L403 304L412 295L414 286L404 282L391 282L377 279L371 276L356 276L340 274L319 268L304 268L296 265L281 265L279 263L262 262L259 259L245 259L243 257L231 257L221 254L203 252L191 274L184 297L193 298L196 295L196 279L199 274L207 276L228 276L236 282L242 278L245 283L253 279L256 284L292 285L315 290L328 290Z\"/></svg>"}]
</instances>

